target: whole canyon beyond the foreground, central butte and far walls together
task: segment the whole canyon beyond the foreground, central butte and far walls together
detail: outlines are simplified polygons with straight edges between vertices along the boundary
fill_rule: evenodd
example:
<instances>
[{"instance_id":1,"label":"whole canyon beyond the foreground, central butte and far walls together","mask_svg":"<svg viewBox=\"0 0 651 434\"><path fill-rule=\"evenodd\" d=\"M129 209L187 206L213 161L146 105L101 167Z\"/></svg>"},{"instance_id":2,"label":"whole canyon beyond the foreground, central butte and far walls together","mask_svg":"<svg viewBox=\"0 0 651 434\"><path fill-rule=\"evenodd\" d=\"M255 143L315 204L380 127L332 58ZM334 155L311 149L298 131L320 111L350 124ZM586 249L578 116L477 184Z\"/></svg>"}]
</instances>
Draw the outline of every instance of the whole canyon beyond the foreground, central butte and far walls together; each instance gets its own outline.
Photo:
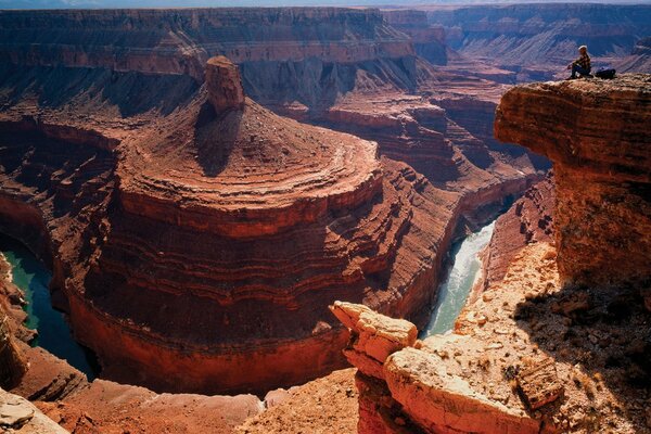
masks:
<instances>
[{"instance_id":1,"label":"whole canyon beyond the foreground, central butte and far walls together","mask_svg":"<svg viewBox=\"0 0 651 434\"><path fill-rule=\"evenodd\" d=\"M103 379L261 396L344 368L329 305L422 328L452 241L551 167L494 138L511 86L592 30L650 69L651 8L561 7L0 11L0 231Z\"/></svg>"}]
</instances>

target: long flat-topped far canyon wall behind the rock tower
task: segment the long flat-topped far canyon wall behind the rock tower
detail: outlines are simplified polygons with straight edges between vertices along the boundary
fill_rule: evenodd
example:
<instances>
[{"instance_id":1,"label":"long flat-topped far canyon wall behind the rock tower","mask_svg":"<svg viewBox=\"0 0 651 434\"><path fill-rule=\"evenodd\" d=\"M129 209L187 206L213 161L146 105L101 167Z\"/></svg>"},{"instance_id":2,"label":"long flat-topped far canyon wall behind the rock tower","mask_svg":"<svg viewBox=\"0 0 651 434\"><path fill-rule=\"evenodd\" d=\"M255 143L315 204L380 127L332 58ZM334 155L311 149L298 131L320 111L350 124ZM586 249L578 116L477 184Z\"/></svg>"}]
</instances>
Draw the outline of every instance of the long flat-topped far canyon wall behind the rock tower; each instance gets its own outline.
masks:
<instances>
[{"instance_id":1,"label":"long flat-topped far canyon wall behind the rock tower","mask_svg":"<svg viewBox=\"0 0 651 434\"><path fill-rule=\"evenodd\" d=\"M318 108L358 76L416 87L409 38L374 10L335 8L3 11L0 59L31 66L189 75L226 55L264 104Z\"/></svg>"}]
</instances>

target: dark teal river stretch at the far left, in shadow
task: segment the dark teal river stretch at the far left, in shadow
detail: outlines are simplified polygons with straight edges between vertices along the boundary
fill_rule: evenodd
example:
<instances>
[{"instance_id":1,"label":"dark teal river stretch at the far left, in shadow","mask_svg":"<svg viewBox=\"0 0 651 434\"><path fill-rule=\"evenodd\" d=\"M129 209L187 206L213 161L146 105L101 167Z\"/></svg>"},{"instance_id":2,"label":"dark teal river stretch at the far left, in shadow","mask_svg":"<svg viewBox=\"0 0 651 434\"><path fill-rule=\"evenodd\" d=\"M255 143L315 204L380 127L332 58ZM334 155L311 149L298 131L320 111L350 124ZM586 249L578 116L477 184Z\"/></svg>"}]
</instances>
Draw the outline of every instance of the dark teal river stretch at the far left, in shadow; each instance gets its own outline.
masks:
<instances>
[{"instance_id":1,"label":"dark teal river stretch at the far left, in shadow","mask_svg":"<svg viewBox=\"0 0 651 434\"><path fill-rule=\"evenodd\" d=\"M48 290L52 278L50 270L23 244L3 234L0 234L0 252L12 266L13 283L25 294L26 326L38 330L33 346L67 360L89 380L94 379L99 372L94 356L75 342L63 314L52 307Z\"/></svg>"}]
</instances>

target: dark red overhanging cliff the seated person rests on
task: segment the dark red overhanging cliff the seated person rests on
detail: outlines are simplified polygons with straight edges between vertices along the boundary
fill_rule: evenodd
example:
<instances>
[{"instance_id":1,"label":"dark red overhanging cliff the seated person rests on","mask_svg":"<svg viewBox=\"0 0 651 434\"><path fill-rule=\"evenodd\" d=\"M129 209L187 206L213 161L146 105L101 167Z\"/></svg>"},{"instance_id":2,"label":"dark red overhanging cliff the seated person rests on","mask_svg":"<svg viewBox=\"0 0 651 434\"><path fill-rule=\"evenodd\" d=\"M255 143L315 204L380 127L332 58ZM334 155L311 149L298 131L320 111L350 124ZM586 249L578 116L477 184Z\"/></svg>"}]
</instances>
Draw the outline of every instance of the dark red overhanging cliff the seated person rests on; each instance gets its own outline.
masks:
<instances>
[{"instance_id":1,"label":"dark red overhanging cliff the seated person rests on","mask_svg":"<svg viewBox=\"0 0 651 434\"><path fill-rule=\"evenodd\" d=\"M651 278L651 77L516 87L495 132L554 162L559 270L567 284Z\"/></svg>"}]
</instances>

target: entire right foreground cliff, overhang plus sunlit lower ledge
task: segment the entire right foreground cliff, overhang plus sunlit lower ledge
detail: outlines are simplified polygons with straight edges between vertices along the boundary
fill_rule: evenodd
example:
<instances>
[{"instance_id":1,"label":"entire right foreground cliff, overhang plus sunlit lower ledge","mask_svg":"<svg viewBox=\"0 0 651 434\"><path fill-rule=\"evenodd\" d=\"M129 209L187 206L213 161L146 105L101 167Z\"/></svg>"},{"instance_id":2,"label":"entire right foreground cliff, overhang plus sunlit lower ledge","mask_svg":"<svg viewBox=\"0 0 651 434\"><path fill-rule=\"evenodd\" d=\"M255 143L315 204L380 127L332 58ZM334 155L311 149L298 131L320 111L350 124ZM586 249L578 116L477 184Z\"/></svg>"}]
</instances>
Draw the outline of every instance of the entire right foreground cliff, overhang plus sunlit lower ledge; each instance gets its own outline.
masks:
<instances>
[{"instance_id":1,"label":"entire right foreground cliff, overhang plus sunlit lower ledge","mask_svg":"<svg viewBox=\"0 0 651 434\"><path fill-rule=\"evenodd\" d=\"M421 341L404 319L331 306L350 331L359 433L649 432L649 79L503 95L496 137L545 153L554 171L498 218L452 333Z\"/></svg>"}]
</instances>

